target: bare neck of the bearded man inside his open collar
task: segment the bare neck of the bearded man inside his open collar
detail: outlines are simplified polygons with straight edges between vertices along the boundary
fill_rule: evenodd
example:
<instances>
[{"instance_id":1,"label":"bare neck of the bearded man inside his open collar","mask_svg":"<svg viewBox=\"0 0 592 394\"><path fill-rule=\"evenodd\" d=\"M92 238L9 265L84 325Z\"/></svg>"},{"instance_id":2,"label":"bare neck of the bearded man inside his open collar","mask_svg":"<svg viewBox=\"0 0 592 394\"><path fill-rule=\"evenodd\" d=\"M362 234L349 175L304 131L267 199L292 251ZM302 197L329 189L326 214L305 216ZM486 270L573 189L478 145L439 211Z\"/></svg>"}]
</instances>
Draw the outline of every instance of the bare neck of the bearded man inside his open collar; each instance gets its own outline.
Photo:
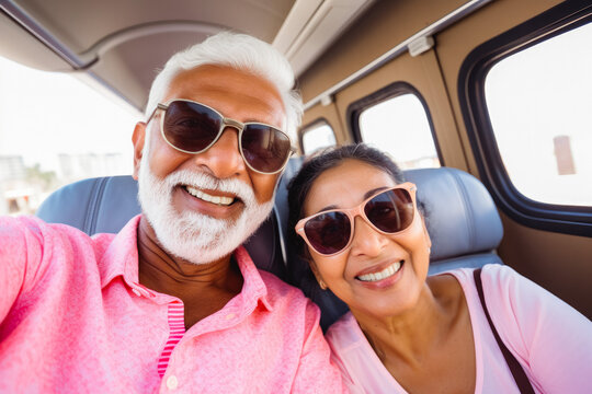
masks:
<instances>
[{"instance_id":1,"label":"bare neck of the bearded man inside his open collar","mask_svg":"<svg viewBox=\"0 0 592 394\"><path fill-rule=\"evenodd\" d=\"M221 308L242 289L238 265L227 255L208 264L193 264L164 251L146 218L138 225L139 282L173 296L185 305L185 326Z\"/></svg>"}]
</instances>

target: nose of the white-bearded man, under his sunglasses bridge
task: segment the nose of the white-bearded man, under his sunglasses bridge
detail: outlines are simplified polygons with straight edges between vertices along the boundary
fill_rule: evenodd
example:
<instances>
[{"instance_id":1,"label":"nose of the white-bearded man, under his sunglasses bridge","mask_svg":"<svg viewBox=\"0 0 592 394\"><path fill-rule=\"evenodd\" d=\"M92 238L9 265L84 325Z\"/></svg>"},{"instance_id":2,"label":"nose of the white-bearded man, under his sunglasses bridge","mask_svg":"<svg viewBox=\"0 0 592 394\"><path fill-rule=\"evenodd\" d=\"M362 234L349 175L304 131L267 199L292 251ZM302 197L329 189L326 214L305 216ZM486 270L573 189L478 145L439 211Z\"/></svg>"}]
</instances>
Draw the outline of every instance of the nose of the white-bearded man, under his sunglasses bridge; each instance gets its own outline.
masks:
<instances>
[{"instance_id":1,"label":"nose of the white-bearded man, under his sunglasses bridge","mask_svg":"<svg viewBox=\"0 0 592 394\"><path fill-rule=\"evenodd\" d=\"M212 175L218 178L228 178L244 172L247 165L239 151L238 135L236 128L226 127L208 150L195 154L195 164L209 169Z\"/></svg>"}]
</instances>

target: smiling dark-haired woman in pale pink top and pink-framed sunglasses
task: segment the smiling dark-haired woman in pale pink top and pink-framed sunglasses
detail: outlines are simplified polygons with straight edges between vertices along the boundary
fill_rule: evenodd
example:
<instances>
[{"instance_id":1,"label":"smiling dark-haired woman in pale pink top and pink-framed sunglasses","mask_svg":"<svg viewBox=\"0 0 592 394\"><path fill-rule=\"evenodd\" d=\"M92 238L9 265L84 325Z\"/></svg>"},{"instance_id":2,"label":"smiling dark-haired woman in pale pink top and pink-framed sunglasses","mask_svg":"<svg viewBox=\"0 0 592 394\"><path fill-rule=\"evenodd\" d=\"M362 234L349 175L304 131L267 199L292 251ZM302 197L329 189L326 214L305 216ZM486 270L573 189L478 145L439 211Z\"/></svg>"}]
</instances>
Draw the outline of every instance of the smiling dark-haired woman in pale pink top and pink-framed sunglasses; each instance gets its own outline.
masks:
<instances>
[{"instance_id":1,"label":"smiling dark-haired woman in pale pink top and pink-framed sunglasses","mask_svg":"<svg viewBox=\"0 0 592 394\"><path fill-rule=\"evenodd\" d=\"M350 308L327 339L352 392L590 392L592 323L576 310L505 266L428 277L415 186L382 152L358 144L312 158L289 207L317 281ZM494 300L501 345L474 280Z\"/></svg>"}]
</instances>

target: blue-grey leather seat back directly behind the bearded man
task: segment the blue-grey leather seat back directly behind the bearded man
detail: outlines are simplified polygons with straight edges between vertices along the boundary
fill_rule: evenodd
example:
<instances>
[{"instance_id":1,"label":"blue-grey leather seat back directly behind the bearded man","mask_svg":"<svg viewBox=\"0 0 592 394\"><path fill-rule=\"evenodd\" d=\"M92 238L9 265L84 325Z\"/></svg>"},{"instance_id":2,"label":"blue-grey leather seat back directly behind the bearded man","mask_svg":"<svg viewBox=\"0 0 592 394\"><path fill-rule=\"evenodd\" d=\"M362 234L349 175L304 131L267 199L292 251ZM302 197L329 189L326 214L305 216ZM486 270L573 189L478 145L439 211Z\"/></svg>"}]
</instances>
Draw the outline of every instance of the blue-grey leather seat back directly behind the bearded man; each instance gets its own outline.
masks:
<instances>
[{"instance_id":1,"label":"blue-grey leather seat back directly behind the bearded man","mask_svg":"<svg viewBox=\"0 0 592 394\"><path fill-rule=\"evenodd\" d=\"M89 178L66 185L47 197L36 216L48 223L64 223L89 235L117 233L141 209L138 184L128 175ZM275 210L244 244L254 264L286 278Z\"/></svg>"}]
</instances>

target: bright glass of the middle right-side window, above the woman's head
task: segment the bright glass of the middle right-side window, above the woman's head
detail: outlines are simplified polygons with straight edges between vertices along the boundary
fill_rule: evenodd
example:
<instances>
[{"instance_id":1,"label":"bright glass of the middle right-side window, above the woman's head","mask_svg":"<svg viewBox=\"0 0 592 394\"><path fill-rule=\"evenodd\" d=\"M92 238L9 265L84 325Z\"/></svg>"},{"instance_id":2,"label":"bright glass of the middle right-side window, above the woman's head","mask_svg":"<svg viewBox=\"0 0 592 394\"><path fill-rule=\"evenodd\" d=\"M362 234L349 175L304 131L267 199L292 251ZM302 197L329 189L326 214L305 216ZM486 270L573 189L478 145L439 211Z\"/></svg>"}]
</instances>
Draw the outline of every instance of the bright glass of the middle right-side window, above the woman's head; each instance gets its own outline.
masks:
<instances>
[{"instance_id":1,"label":"bright glass of the middle right-side window, above the woman's head","mask_svg":"<svg viewBox=\"0 0 592 394\"><path fill-rule=\"evenodd\" d=\"M401 169L440 166L428 114L414 94L364 109L360 134L364 142L389 153Z\"/></svg>"}]
</instances>

